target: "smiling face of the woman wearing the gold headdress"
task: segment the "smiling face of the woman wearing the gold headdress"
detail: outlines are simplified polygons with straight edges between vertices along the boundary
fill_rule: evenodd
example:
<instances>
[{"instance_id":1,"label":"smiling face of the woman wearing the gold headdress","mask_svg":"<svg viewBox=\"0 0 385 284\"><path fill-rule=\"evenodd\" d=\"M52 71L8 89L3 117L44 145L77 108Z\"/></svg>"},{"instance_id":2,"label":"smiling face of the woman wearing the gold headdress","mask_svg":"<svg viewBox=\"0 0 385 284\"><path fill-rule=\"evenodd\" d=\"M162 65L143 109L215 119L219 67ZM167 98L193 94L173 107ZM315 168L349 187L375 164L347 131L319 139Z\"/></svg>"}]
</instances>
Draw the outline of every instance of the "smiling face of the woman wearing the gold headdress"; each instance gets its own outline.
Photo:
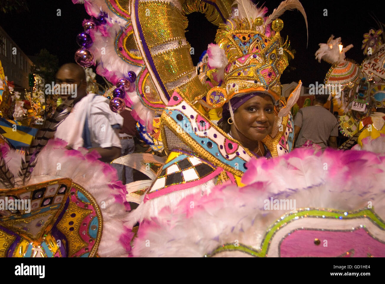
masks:
<instances>
[{"instance_id":1,"label":"smiling face of the woman wearing the gold headdress","mask_svg":"<svg viewBox=\"0 0 385 284\"><path fill-rule=\"evenodd\" d=\"M249 140L264 139L271 133L275 121L273 100L263 93L251 97L234 112L234 120Z\"/></svg>"}]
</instances>

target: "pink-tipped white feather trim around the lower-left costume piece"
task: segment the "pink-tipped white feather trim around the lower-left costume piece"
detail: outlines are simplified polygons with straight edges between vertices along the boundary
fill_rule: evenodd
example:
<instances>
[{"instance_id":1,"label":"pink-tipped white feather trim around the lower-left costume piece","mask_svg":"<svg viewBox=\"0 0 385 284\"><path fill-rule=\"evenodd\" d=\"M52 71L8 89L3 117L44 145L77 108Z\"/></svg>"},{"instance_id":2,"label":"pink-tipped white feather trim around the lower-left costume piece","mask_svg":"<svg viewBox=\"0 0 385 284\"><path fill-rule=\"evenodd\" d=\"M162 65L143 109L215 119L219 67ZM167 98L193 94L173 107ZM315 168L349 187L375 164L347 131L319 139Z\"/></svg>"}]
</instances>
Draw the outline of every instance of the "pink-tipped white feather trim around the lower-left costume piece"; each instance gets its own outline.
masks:
<instances>
[{"instance_id":1,"label":"pink-tipped white feather trim around the lower-left costume piece","mask_svg":"<svg viewBox=\"0 0 385 284\"><path fill-rule=\"evenodd\" d=\"M41 176L47 176L47 179L67 177L84 187L98 204L104 201L105 207L100 207L104 221L103 234L97 253L102 257L129 256L131 247L124 240L131 240L133 234L124 226L131 210L126 201L126 186L117 180L117 172L112 166L98 160L98 152L89 153L85 148L67 150L66 145L60 139L48 141L37 157L28 184L35 183ZM0 150L10 171L17 177L22 153L10 150L8 145L3 145Z\"/></svg>"}]
</instances>

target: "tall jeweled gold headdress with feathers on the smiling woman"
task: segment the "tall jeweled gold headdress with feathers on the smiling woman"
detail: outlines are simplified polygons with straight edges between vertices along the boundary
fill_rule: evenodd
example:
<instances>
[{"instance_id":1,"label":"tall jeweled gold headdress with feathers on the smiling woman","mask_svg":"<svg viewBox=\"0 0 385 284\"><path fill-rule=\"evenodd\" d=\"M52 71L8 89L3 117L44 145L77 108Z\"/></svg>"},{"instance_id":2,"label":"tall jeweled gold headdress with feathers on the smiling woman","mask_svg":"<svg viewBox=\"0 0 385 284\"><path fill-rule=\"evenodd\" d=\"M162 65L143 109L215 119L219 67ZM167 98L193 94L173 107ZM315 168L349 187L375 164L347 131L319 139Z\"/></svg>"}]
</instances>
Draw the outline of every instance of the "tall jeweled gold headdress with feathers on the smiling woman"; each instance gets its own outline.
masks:
<instances>
[{"instance_id":1,"label":"tall jeweled gold headdress with feathers on the smiling woman","mask_svg":"<svg viewBox=\"0 0 385 284\"><path fill-rule=\"evenodd\" d=\"M298 1L284 1L264 20L262 16L266 8L257 8L244 0L235 3L238 4L238 17L220 24L215 38L224 50L228 64L224 67L221 84L209 90L206 102L216 108L234 96L264 92L275 102L281 102L281 106L285 105L285 98L281 97L280 77L288 66L288 56L294 56L288 50L290 42L287 39L283 42L280 35L283 21L276 17L284 10L297 8L306 21L305 11Z\"/></svg>"}]
</instances>

